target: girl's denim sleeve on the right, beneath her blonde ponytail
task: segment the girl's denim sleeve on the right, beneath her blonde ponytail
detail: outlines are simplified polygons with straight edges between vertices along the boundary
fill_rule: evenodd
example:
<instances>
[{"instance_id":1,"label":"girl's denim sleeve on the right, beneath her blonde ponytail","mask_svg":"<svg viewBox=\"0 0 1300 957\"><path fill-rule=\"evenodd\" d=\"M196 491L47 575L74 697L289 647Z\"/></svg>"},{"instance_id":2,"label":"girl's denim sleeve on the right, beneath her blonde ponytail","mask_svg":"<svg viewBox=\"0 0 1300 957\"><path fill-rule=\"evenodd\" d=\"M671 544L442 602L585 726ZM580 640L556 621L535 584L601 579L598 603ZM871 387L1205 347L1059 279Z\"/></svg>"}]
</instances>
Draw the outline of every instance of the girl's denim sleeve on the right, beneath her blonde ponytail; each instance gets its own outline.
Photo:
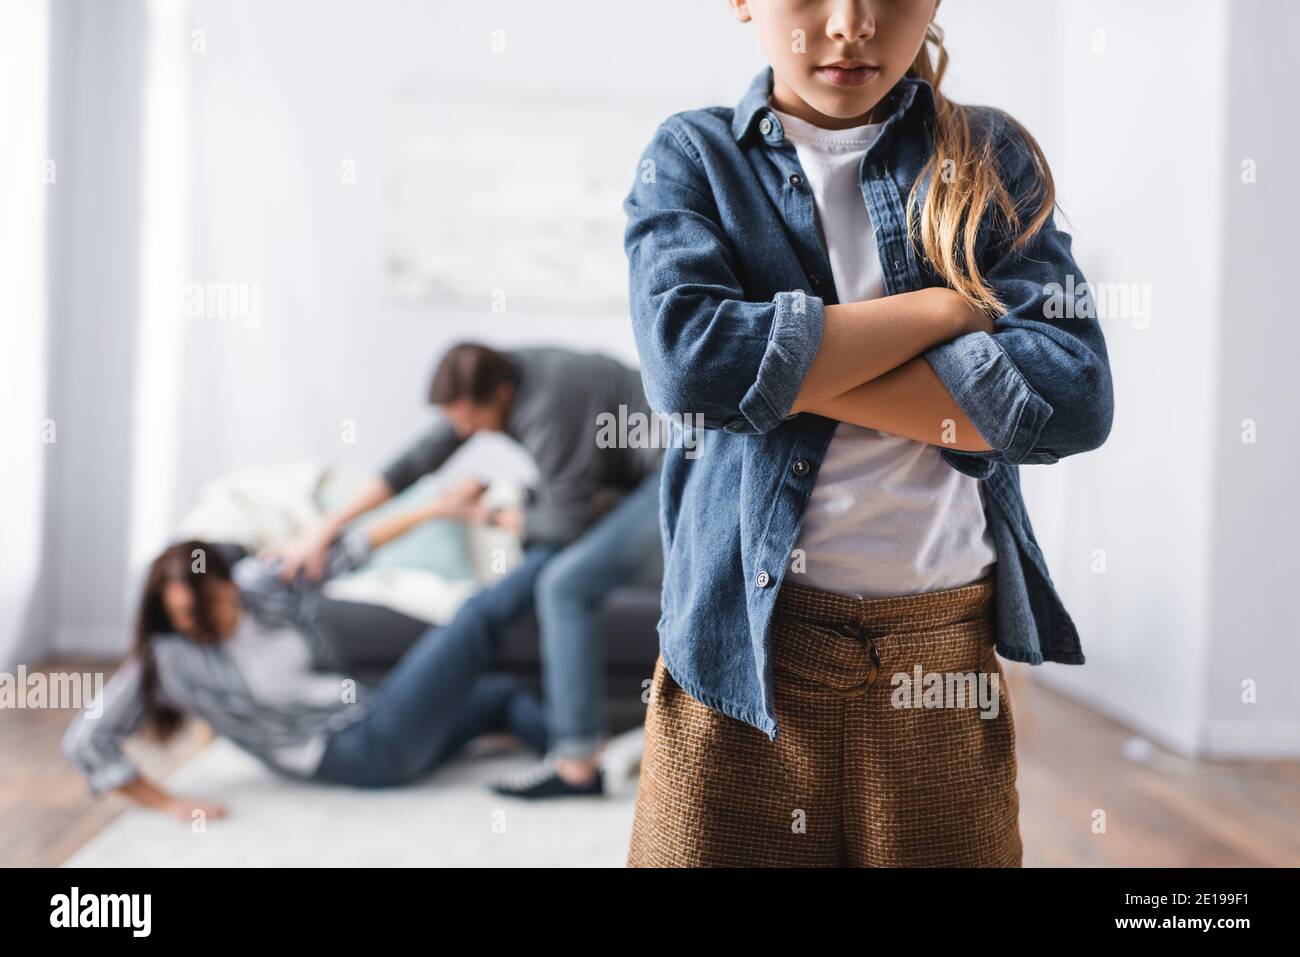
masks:
<instances>
[{"instance_id":1,"label":"girl's denim sleeve on the right, beneath her blonde ponytail","mask_svg":"<svg viewBox=\"0 0 1300 957\"><path fill-rule=\"evenodd\" d=\"M1043 189L1018 126L996 120L997 157L1018 208L1031 213ZM1014 246L989 228L982 272L1006 306L993 333L971 333L926 352L935 373L991 452L945 450L961 471L984 475L991 462L1052 463L1100 446L1110 433L1114 395L1093 298L1067 233L1049 216Z\"/></svg>"}]
</instances>

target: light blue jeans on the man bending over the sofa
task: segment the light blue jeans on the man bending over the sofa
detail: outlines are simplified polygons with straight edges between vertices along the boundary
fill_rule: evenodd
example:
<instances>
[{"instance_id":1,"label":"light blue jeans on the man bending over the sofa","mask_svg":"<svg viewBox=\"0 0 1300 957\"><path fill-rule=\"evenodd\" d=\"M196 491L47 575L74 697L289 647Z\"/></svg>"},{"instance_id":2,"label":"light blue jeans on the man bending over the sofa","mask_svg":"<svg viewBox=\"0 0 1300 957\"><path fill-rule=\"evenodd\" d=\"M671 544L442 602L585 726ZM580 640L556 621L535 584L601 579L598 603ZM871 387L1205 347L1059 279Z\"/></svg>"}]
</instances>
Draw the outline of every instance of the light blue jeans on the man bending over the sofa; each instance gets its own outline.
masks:
<instances>
[{"instance_id":1,"label":"light blue jeans on the man bending over the sofa","mask_svg":"<svg viewBox=\"0 0 1300 957\"><path fill-rule=\"evenodd\" d=\"M542 570L537 616L554 757L590 758L604 741L604 649L597 612L616 585L653 571L662 550L654 472Z\"/></svg>"}]
</instances>

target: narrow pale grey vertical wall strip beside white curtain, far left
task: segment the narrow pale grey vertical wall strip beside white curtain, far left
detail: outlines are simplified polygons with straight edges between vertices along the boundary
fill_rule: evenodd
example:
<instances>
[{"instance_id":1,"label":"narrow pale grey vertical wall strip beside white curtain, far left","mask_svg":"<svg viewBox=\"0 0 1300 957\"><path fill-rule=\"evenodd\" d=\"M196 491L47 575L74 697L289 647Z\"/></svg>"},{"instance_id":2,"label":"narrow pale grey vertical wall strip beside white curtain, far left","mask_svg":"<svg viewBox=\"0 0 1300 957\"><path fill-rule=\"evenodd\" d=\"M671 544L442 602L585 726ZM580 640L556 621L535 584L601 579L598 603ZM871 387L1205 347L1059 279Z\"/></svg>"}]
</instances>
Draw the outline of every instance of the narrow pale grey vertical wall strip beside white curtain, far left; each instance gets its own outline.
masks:
<instances>
[{"instance_id":1,"label":"narrow pale grey vertical wall strip beside white curtain, far left","mask_svg":"<svg viewBox=\"0 0 1300 957\"><path fill-rule=\"evenodd\" d=\"M126 642L144 29L136 3L52 5L55 651Z\"/></svg>"}]
</instances>

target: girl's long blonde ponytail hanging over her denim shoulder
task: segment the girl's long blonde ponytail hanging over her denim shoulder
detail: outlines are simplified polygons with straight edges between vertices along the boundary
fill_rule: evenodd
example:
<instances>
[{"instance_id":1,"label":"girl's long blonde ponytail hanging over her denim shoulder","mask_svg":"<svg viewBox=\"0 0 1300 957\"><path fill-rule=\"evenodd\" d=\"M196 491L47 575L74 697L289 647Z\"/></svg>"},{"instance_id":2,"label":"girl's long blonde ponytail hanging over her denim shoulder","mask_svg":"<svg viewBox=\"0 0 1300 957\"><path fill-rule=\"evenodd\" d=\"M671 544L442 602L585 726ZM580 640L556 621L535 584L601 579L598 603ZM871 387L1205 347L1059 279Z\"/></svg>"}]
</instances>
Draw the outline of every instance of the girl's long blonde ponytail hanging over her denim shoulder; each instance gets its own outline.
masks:
<instances>
[{"instance_id":1,"label":"girl's long blonde ponytail hanging over her denim shoulder","mask_svg":"<svg viewBox=\"0 0 1300 957\"><path fill-rule=\"evenodd\" d=\"M930 47L935 47L933 61ZM935 150L907 196L907 233L953 290L988 312L1004 312L1005 306L984 281L975 257L980 221L989 207L994 207L1015 235L1011 248L1018 250L1052 215L1056 186L1037 142L1015 120L1006 117L1024 138L1037 177L1037 207L1032 212L1017 208L998 176L993 138L976 138L971 131L971 109L952 103L940 92L946 69L944 31L931 22L926 42L907 70L909 77L924 79L935 91ZM918 209L918 190L927 179L926 202Z\"/></svg>"}]
</instances>

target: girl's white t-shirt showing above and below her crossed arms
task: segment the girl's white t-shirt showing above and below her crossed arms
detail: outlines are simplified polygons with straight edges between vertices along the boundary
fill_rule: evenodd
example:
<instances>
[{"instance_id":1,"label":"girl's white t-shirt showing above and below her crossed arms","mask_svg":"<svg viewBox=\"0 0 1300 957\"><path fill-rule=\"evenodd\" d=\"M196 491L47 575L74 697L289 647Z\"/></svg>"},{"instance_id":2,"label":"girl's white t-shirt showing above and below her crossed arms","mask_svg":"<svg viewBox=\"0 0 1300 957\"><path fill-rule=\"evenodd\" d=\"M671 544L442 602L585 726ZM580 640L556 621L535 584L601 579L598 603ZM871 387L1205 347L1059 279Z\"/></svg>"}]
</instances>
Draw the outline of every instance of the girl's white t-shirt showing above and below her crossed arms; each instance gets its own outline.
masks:
<instances>
[{"instance_id":1,"label":"girl's white t-shirt showing above and below her crossed arms","mask_svg":"<svg viewBox=\"0 0 1300 957\"><path fill-rule=\"evenodd\" d=\"M841 303L884 295L861 164L883 124L823 130L772 111L812 189L818 226ZM957 588L997 560L978 480L936 446L840 423L818 472L789 581L887 597Z\"/></svg>"}]
</instances>

